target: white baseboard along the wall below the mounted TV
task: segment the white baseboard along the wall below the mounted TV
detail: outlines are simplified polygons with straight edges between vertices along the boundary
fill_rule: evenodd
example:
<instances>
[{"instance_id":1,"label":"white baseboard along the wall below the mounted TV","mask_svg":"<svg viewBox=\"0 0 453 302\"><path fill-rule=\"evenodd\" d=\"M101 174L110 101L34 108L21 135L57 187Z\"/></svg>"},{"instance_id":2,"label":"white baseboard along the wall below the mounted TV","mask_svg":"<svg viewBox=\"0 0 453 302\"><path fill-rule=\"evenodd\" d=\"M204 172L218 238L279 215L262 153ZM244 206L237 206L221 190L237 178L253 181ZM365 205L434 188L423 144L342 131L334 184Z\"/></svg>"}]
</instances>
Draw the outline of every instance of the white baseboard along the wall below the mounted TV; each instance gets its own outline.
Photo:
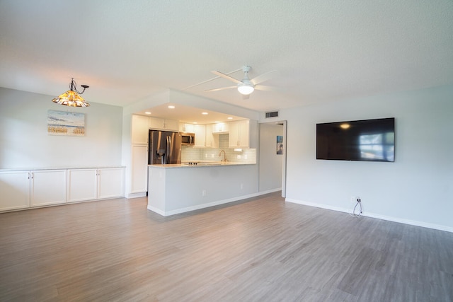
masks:
<instances>
[{"instance_id":1,"label":"white baseboard along the wall below the mounted TV","mask_svg":"<svg viewBox=\"0 0 453 302\"><path fill-rule=\"evenodd\" d=\"M309 207L317 207L317 208L328 209L328 210L333 210L333 211L341 211L341 212L350 213L350 214L352 213L352 211L350 209L332 207L332 206L329 206L328 204L316 204L313 202L304 202L301 200L290 199L290 198L286 198L285 202L292 202L294 204L303 204L303 205L309 206ZM362 213L362 216L367 216L367 217L375 218L375 219L382 219L382 220L386 220L386 221L393 221L393 222L398 222L398 223L405 223L405 224L409 224L411 226L421 226L423 228L432 228L432 229L439 230L439 231L446 231L446 232L453 233L452 227L442 226L440 224L435 224L435 223L427 223L427 222L415 221L415 220L411 220L411 219L401 219L398 217L374 214L374 213L369 213L369 212Z\"/></svg>"}]
</instances>

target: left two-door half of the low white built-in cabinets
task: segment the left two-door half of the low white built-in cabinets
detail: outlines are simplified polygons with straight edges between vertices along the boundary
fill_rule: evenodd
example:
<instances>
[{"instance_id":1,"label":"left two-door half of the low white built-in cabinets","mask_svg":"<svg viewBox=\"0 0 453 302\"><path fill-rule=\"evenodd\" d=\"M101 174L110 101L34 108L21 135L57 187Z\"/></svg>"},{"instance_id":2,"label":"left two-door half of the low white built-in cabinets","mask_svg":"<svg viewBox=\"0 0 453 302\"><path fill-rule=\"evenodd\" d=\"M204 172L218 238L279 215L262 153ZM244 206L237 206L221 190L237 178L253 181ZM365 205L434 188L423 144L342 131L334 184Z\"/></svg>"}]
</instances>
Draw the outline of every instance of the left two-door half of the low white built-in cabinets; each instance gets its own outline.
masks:
<instances>
[{"instance_id":1,"label":"left two-door half of the low white built-in cabinets","mask_svg":"<svg viewBox=\"0 0 453 302\"><path fill-rule=\"evenodd\" d=\"M0 211L66 202L67 170L0 172Z\"/></svg>"}]
</instances>

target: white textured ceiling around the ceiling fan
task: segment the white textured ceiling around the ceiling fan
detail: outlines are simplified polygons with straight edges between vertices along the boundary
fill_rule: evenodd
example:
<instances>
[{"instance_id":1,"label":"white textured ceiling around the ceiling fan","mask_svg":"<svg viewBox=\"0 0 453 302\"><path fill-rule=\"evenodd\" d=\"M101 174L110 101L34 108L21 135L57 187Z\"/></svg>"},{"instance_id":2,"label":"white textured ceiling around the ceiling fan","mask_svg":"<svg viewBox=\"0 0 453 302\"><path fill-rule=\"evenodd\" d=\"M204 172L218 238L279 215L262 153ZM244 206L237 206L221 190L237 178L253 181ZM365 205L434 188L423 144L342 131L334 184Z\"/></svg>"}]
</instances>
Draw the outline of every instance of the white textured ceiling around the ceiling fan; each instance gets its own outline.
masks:
<instances>
[{"instance_id":1,"label":"white textured ceiling around the ceiling fan","mask_svg":"<svg viewBox=\"0 0 453 302\"><path fill-rule=\"evenodd\" d=\"M171 88L265 111L450 85L452 16L451 0L1 0L0 86L59 95L74 77L88 102ZM194 86L245 64L284 91Z\"/></svg>"}]
</instances>

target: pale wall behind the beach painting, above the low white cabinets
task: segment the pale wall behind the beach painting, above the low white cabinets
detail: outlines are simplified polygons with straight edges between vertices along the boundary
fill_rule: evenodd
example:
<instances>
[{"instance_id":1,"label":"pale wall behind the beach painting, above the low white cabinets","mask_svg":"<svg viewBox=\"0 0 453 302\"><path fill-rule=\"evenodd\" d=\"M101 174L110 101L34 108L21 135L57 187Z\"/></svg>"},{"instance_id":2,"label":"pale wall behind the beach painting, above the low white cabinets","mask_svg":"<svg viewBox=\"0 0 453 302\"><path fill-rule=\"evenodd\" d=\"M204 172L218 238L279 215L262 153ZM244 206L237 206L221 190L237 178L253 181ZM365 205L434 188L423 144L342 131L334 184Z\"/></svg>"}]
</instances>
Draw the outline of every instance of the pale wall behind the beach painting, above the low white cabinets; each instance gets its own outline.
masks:
<instances>
[{"instance_id":1,"label":"pale wall behind the beach painting, above the low white cabinets","mask_svg":"<svg viewBox=\"0 0 453 302\"><path fill-rule=\"evenodd\" d=\"M0 88L0 168L72 168L121 165L122 108L93 103L68 108L52 95ZM47 110L85 114L85 136L47 134Z\"/></svg>"}]
</instances>

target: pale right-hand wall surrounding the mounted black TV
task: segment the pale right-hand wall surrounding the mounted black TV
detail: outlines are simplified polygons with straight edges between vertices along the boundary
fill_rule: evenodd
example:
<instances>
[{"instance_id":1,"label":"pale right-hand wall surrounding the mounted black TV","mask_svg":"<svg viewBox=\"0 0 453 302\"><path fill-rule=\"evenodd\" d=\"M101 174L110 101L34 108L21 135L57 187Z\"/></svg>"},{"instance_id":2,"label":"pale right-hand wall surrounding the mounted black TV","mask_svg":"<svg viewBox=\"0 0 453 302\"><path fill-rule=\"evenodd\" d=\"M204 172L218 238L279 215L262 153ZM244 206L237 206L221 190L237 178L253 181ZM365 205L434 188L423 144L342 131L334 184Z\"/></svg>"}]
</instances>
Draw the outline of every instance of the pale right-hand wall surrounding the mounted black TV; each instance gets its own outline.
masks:
<instances>
[{"instance_id":1,"label":"pale right-hand wall surrounding the mounted black TV","mask_svg":"<svg viewBox=\"0 0 453 302\"><path fill-rule=\"evenodd\" d=\"M280 110L287 201L453 231L453 86ZM394 163L316 160L316 123L395 117Z\"/></svg>"}]
</instances>

